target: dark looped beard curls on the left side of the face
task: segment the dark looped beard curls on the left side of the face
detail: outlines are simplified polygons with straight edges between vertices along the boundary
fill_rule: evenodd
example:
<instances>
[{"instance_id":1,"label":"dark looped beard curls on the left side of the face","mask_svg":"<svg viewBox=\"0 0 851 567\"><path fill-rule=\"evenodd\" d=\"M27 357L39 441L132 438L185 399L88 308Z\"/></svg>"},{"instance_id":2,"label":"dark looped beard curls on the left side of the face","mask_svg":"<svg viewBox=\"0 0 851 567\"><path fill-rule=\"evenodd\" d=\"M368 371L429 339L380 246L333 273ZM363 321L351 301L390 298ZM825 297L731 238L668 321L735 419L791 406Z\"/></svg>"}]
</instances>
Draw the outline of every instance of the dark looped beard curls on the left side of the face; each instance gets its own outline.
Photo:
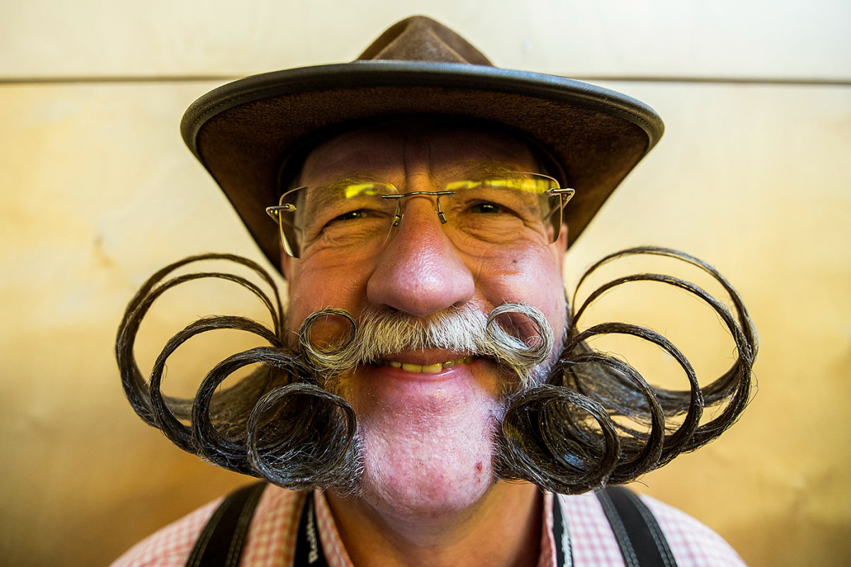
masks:
<instances>
[{"instance_id":1,"label":"dark looped beard curls on the left side of the face","mask_svg":"<svg viewBox=\"0 0 851 567\"><path fill-rule=\"evenodd\" d=\"M221 272L181 275L163 282L175 269L202 260L227 260L248 267L271 287L272 297L241 276ZM168 340L146 382L133 352L142 319L163 292L203 278L221 278L247 288L266 306L272 328L246 317L197 320ZM220 467L297 490L333 487L351 493L361 468L354 411L345 400L319 388L304 358L286 348L283 321L275 281L259 264L231 254L203 254L169 264L151 275L124 311L116 340L124 394L134 411L174 445ZM163 396L160 386L168 356L191 337L215 329L254 333L269 346L222 360L203 378L194 399ZM232 372L257 363L261 366L236 385L216 392ZM180 420L189 421L190 426Z\"/></svg>"}]
</instances>

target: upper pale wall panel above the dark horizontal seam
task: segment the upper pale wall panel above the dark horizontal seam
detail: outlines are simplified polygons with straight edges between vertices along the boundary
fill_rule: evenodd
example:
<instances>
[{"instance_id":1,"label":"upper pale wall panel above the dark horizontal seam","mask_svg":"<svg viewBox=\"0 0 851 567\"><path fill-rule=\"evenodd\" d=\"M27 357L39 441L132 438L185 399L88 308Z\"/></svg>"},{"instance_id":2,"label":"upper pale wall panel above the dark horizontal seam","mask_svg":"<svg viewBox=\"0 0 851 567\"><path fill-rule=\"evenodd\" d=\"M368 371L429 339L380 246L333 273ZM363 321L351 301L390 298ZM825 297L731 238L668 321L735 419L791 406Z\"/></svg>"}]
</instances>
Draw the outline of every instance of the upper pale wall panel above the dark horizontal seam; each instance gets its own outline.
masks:
<instances>
[{"instance_id":1,"label":"upper pale wall panel above the dark horizontal seam","mask_svg":"<svg viewBox=\"0 0 851 567\"><path fill-rule=\"evenodd\" d=\"M351 60L426 13L500 66L570 77L851 78L843 0L3 0L0 77L234 75Z\"/></svg>"}]
</instances>

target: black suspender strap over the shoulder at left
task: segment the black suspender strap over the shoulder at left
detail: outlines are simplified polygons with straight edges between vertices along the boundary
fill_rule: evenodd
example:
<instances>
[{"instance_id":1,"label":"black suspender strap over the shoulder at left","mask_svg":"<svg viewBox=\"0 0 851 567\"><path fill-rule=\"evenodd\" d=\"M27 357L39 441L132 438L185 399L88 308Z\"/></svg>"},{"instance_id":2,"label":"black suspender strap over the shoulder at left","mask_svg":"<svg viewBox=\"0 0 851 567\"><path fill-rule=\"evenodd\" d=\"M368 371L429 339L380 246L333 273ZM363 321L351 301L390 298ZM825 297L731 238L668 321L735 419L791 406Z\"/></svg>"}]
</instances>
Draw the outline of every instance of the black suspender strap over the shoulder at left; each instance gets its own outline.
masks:
<instances>
[{"instance_id":1,"label":"black suspender strap over the shoulder at left","mask_svg":"<svg viewBox=\"0 0 851 567\"><path fill-rule=\"evenodd\" d=\"M265 488L266 483L260 482L231 492L204 526L186 567L237 567L254 508Z\"/></svg>"}]
</instances>

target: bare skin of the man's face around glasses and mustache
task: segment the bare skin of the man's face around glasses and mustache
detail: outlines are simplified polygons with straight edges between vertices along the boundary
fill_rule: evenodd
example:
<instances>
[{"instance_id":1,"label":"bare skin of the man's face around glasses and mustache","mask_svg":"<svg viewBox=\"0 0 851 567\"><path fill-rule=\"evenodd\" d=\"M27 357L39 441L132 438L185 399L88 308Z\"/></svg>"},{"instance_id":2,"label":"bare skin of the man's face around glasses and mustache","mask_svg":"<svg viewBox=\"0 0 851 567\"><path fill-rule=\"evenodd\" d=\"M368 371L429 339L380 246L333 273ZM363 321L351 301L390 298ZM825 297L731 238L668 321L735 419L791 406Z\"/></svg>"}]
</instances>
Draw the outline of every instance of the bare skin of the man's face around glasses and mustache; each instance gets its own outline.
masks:
<instances>
[{"instance_id":1,"label":"bare skin of the man's face around glasses and mustache","mask_svg":"<svg viewBox=\"0 0 851 567\"><path fill-rule=\"evenodd\" d=\"M435 191L468 179L483 164L516 172L540 168L528 147L505 133L417 120L329 140L311 152L300 182L367 177L400 192ZM566 230L549 246L474 255L440 223L433 196L407 197L401 207L401 224L374 253L340 256L318 247L299 259L283 258L291 331L327 307L346 309L357 320L368 307L427 317L453 307L487 315L502 303L528 303L562 336ZM503 411L494 362L474 359L420 372L420 366L468 354L437 349L392 354L386 362L406 366L359 366L336 386L358 417L365 461L361 486L372 506L421 517L469 507L493 485L494 427Z\"/></svg>"}]
</instances>

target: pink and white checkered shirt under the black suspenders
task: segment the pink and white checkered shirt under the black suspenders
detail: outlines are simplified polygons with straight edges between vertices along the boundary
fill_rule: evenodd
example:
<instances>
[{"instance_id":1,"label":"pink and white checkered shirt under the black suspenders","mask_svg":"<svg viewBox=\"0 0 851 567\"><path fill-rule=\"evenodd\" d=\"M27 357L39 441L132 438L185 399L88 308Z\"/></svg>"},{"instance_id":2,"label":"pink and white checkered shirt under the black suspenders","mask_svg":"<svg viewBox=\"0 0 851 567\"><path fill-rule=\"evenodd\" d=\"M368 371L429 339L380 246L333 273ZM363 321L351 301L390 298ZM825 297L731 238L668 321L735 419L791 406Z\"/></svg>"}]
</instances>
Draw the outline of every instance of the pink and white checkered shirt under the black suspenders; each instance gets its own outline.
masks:
<instances>
[{"instance_id":1,"label":"pink and white checkered shirt under the black suspenders","mask_svg":"<svg viewBox=\"0 0 851 567\"><path fill-rule=\"evenodd\" d=\"M623 565L620 548L597 497L591 493L558 497L570 533L575 567ZM551 494L544 496L544 529L541 530L538 567L556 565L552 498ZM642 496L642 500L665 532L680 567L744 565L733 548L704 524L649 496ZM220 502L210 502L140 541L111 567L183 567L195 540ZM266 487L248 529L240 561L242 567L289 567L293 564L295 536L304 502L305 493L272 485ZM321 492L317 492L316 502L319 538L329 567L351 567L328 502Z\"/></svg>"}]
</instances>

